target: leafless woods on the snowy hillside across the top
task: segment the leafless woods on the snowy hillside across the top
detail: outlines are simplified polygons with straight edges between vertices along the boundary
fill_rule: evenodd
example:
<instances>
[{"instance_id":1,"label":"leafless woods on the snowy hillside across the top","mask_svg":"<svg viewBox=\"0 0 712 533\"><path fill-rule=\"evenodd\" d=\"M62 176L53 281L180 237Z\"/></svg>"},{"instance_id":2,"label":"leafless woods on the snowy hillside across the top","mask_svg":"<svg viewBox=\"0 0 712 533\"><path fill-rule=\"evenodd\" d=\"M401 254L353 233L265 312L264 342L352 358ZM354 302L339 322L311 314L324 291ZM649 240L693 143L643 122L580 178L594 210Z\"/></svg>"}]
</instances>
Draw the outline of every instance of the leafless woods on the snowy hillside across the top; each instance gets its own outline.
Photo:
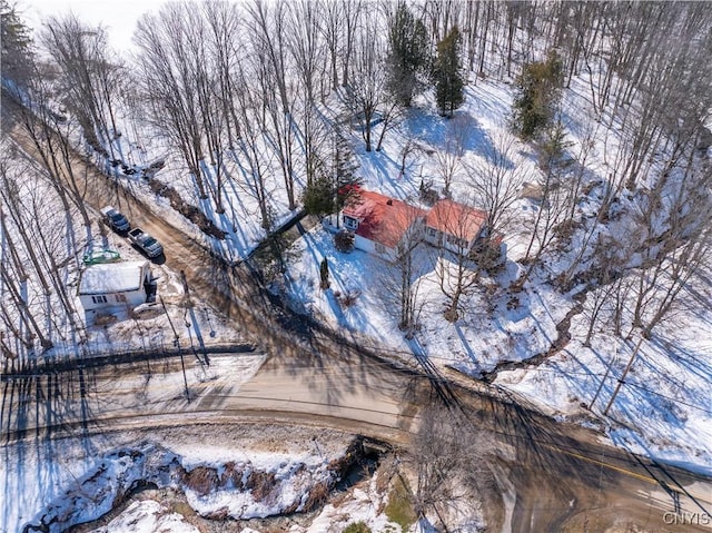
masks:
<instances>
[{"instance_id":1,"label":"leafless woods on the snowy hillside across the top","mask_svg":"<svg viewBox=\"0 0 712 533\"><path fill-rule=\"evenodd\" d=\"M148 126L165 136L217 213L225 211L226 184L238 179L225 162L235 162L245 180L239 190L255 198L270 234L268 177L279 176L291 210L310 187L334 194L350 182L344 161L352 148L335 141L343 139L344 122L357 120L365 150L380 150L415 98L434 90L441 112L455 115L444 134L451 148L437 154L444 195L453 180L465 182L472 203L488 213L492 231L506 231L523 184L537 184L543 208L528 228L518 286L557 254L566 261L554 279L561 289L585 284L592 290L585 303L591 334L605 305L616 333L650 335L710 255L712 11L704 2L170 2L139 21L135 57L111 50L105 29L76 16L51 18L31 36L7 0L0 6L3 88L28 103L23 126L43 155L49 190L65 208L51 214L61 230L46 235L38 220L50 214L13 193L21 169L2 161L8 297L0 340L9 357L34 339L51 346L51 298L80 330L62 276L68 261L77 261L78 243L92 236L69 142L82 136L115 159L110 141L121 135L119 109L132 110L134 131ZM531 142L540 175L512 168L507 154L515 148L506 139L494 139L481 166L462 162L467 128L455 111L463 87L482 79L514 85L514 106L503 119ZM561 100L574 79L590 91L591 121L572 147ZM325 115L334 93L346 116ZM601 139L609 172L591 182L589 156ZM403 150L392 156L402 157L405 168ZM206 178L206 168L216 179ZM601 197L595 219L582 220L577 206L594 190ZM623 197L634 206L629 217L621 213ZM83 228L75 227L73 214ZM617 239L606 228L623 218L626 238ZM572 243L577 249L563 253ZM402 320L411 323L418 306L408 295L417 283L407 257ZM472 279L452 276L443 290L456 316ZM47 297L42 306L28 300L30 278Z\"/></svg>"}]
</instances>

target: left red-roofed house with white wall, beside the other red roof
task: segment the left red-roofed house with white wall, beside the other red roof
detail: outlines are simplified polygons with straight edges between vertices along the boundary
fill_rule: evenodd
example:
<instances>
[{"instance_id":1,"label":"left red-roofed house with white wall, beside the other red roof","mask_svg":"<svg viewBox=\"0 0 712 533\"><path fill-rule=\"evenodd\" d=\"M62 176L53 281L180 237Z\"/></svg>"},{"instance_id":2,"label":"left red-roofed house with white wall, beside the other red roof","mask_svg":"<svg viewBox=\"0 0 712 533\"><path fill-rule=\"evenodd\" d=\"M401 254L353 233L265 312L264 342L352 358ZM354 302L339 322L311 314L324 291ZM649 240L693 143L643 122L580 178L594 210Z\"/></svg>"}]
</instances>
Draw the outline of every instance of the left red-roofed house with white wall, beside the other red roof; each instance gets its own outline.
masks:
<instances>
[{"instance_id":1,"label":"left red-roofed house with white wall, beside the other red roof","mask_svg":"<svg viewBox=\"0 0 712 533\"><path fill-rule=\"evenodd\" d=\"M354 233L354 246L394 260L399 246L422 238L427 211L388 196L360 189L342 210L344 227Z\"/></svg>"}]
</instances>

